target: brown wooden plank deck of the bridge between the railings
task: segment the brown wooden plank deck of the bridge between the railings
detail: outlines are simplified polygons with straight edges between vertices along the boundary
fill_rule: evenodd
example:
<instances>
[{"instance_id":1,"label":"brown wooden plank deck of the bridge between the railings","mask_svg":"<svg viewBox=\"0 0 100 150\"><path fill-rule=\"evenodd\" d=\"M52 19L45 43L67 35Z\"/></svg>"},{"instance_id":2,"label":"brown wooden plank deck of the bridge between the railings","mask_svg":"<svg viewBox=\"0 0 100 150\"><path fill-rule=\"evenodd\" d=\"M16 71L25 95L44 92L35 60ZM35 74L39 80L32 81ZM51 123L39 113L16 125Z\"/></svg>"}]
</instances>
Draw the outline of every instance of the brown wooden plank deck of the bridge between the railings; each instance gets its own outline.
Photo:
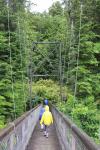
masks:
<instances>
[{"instance_id":1,"label":"brown wooden plank deck of the bridge between the railings","mask_svg":"<svg viewBox=\"0 0 100 150\"><path fill-rule=\"evenodd\" d=\"M61 150L54 125L49 127L48 133L46 138L38 123L26 150Z\"/></svg>"}]
</instances>

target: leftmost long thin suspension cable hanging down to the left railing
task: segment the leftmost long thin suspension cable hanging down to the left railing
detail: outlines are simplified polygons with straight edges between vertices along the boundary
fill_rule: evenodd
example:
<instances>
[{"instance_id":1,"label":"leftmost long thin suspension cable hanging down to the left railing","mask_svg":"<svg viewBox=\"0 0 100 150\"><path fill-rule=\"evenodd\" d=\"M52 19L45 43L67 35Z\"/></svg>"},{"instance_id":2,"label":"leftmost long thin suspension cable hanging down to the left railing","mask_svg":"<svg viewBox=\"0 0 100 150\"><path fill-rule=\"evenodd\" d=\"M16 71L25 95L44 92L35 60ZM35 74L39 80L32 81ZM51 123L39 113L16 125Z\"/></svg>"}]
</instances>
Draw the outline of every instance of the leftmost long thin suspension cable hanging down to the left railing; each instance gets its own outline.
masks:
<instances>
[{"instance_id":1,"label":"leftmost long thin suspension cable hanging down to the left railing","mask_svg":"<svg viewBox=\"0 0 100 150\"><path fill-rule=\"evenodd\" d=\"M13 99L13 109L14 109L14 119L16 119L16 103L14 95L14 81L13 81L13 67L12 67L12 50L11 50L11 33L10 33L10 6L9 0L7 1L7 11L8 11L8 49L10 52L10 72L11 72L11 89L12 89L12 99Z\"/></svg>"}]
</instances>

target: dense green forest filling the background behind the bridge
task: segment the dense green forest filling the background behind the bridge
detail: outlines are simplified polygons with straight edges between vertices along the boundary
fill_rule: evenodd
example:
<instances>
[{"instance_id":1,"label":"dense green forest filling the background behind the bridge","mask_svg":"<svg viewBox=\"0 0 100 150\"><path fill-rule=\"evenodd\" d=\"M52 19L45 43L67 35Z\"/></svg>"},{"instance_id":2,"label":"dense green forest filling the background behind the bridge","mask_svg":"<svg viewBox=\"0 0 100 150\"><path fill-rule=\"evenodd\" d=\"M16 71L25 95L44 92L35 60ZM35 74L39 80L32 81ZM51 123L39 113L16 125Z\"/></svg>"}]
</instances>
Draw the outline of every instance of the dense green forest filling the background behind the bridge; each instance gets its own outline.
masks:
<instances>
[{"instance_id":1,"label":"dense green forest filling the background behind the bridge","mask_svg":"<svg viewBox=\"0 0 100 150\"><path fill-rule=\"evenodd\" d=\"M0 0L0 128L47 98L100 144L100 0L30 6Z\"/></svg>"}]
</instances>

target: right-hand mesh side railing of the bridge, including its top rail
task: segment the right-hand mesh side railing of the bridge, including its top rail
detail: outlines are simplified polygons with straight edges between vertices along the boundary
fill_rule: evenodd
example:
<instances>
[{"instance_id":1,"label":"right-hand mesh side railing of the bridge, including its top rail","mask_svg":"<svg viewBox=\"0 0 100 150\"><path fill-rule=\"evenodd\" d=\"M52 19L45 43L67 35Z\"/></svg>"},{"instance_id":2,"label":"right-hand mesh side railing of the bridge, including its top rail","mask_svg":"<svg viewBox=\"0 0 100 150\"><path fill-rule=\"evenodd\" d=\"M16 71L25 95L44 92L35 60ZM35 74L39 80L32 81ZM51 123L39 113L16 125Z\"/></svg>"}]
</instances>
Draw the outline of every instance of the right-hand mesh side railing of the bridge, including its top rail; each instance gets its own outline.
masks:
<instances>
[{"instance_id":1,"label":"right-hand mesh side railing of the bridge, including its top rail","mask_svg":"<svg viewBox=\"0 0 100 150\"><path fill-rule=\"evenodd\" d=\"M62 150L100 150L94 141L64 114L51 106Z\"/></svg>"}]
</instances>

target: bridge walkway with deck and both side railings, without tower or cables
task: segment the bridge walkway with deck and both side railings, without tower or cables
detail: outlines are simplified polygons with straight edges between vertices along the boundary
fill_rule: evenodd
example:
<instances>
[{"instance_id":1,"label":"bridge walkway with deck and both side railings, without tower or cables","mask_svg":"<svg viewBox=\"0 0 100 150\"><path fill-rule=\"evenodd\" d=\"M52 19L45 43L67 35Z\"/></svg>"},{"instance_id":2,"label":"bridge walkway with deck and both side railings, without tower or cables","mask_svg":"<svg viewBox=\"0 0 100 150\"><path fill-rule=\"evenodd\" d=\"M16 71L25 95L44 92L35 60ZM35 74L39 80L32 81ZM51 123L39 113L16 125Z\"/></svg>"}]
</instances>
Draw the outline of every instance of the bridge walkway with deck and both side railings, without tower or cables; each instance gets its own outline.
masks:
<instances>
[{"instance_id":1,"label":"bridge walkway with deck and both side railings, without tower or cables","mask_svg":"<svg viewBox=\"0 0 100 150\"><path fill-rule=\"evenodd\" d=\"M53 105L50 109L54 125L49 128L49 137L44 137L38 123L41 107L26 112L0 132L0 150L99 150L86 133Z\"/></svg>"}]
</instances>

